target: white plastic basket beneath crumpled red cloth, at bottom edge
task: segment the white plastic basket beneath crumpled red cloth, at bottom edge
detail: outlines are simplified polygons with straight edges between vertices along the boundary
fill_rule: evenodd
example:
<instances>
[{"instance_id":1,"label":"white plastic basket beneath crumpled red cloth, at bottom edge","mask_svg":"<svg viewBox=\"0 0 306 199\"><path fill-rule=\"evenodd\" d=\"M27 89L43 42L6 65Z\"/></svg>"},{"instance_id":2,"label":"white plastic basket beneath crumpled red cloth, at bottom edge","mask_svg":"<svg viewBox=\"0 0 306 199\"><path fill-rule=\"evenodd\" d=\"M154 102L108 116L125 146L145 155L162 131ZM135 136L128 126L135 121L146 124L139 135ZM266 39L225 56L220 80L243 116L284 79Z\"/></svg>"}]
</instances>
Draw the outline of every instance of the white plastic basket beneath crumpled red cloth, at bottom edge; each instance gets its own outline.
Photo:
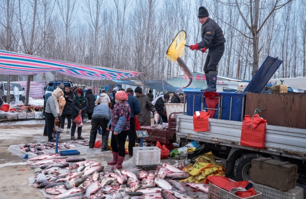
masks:
<instances>
[{"instance_id":1,"label":"white plastic basket beneath crumpled red cloth, at bottom edge","mask_svg":"<svg viewBox=\"0 0 306 199\"><path fill-rule=\"evenodd\" d=\"M258 190L255 190L255 191L257 192L256 195L245 197L244 199L261 199L262 193ZM210 199L242 199L242 197L238 197L237 195L230 193L212 183L209 183L208 198Z\"/></svg>"}]
</instances>

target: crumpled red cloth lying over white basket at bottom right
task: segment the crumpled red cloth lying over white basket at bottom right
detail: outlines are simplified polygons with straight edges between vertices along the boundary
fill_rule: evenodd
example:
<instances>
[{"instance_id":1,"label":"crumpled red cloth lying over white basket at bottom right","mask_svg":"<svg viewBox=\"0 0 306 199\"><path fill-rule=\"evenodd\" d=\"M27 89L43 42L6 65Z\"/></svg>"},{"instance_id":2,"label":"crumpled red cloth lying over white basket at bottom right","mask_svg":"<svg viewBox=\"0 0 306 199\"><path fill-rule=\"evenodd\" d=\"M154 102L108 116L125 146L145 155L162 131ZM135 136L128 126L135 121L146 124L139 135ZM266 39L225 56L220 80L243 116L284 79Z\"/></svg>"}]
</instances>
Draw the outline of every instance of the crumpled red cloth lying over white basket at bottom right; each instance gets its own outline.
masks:
<instances>
[{"instance_id":1,"label":"crumpled red cloth lying over white basket at bottom right","mask_svg":"<svg viewBox=\"0 0 306 199\"><path fill-rule=\"evenodd\" d=\"M221 176L209 176L206 179L206 184L208 184L209 182L213 183L214 185L225 189L226 191L231 191L232 188L238 188L238 187L242 187L245 188L250 182L248 181L238 181L238 182L232 182L230 179L226 178L226 177L221 177ZM253 187L247 189L246 191L238 191L235 193L237 196L245 198L245 197L249 197L252 195L256 195L256 191L254 190Z\"/></svg>"}]
</instances>

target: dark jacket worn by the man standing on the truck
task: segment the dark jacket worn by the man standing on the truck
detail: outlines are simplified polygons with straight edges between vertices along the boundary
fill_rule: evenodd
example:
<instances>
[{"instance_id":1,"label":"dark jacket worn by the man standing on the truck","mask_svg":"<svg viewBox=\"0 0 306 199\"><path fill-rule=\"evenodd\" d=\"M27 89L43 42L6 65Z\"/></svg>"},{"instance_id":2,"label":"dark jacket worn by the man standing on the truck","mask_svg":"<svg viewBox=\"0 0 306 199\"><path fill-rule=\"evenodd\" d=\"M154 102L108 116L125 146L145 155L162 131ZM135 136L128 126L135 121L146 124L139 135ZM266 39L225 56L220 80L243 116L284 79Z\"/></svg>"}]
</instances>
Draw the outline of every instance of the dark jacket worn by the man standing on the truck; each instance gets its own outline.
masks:
<instances>
[{"instance_id":1,"label":"dark jacket worn by the man standing on the truck","mask_svg":"<svg viewBox=\"0 0 306 199\"><path fill-rule=\"evenodd\" d=\"M225 43L224 35L220 26L211 18L202 25L202 41L198 43L199 48L215 48Z\"/></svg>"}]
</instances>

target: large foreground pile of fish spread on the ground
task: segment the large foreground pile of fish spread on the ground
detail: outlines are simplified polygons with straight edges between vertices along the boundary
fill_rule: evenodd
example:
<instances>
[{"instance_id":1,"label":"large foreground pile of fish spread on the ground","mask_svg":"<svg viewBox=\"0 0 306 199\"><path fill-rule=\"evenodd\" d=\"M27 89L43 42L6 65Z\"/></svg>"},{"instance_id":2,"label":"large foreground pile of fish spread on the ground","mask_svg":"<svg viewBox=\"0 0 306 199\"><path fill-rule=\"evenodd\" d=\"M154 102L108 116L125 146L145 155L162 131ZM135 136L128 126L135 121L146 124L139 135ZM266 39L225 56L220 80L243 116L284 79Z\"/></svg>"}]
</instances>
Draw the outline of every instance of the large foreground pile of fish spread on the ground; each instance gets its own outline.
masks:
<instances>
[{"instance_id":1,"label":"large foreground pile of fish spread on the ground","mask_svg":"<svg viewBox=\"0 0 306 199\"><path fill-rule=\"evenodd\" d=\"M188 178L189 174L167 163L158 167L155 173L140 171L135 175L124 169L107 171L100 162L86 161L82 157L44 154L32 157L29 161L33 167L41 169L35 176L33 186L54 194L53 199L193 198L182 184L173 180ZM206 185L187 185L196 185L197 190L208 192Z\"/></svg>"}]
</instances>

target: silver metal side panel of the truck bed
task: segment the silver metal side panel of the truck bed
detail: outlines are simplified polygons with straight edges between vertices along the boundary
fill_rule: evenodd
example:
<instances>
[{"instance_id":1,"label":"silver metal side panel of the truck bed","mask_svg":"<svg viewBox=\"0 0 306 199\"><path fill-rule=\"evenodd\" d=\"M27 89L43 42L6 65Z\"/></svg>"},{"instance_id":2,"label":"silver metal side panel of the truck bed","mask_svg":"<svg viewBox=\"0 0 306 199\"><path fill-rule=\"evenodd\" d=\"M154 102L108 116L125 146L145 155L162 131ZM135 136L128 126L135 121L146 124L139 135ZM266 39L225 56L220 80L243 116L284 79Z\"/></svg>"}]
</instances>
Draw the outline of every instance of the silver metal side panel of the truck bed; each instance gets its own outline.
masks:
<instances>
[{"instance_id":1,"label":"silver metal side panel of the truck bed","mask_svg":"<svg viewBox=\"0 0 306 199\"><path fill-rule=\"evenodd\" d=\"M257 152L306 159L306 130L266 125L265 148L240 145L242 122L209 119L210 130L193 131L193 116L176 116L176 138L197 140Z\"/></svg>"}]
</instances>

